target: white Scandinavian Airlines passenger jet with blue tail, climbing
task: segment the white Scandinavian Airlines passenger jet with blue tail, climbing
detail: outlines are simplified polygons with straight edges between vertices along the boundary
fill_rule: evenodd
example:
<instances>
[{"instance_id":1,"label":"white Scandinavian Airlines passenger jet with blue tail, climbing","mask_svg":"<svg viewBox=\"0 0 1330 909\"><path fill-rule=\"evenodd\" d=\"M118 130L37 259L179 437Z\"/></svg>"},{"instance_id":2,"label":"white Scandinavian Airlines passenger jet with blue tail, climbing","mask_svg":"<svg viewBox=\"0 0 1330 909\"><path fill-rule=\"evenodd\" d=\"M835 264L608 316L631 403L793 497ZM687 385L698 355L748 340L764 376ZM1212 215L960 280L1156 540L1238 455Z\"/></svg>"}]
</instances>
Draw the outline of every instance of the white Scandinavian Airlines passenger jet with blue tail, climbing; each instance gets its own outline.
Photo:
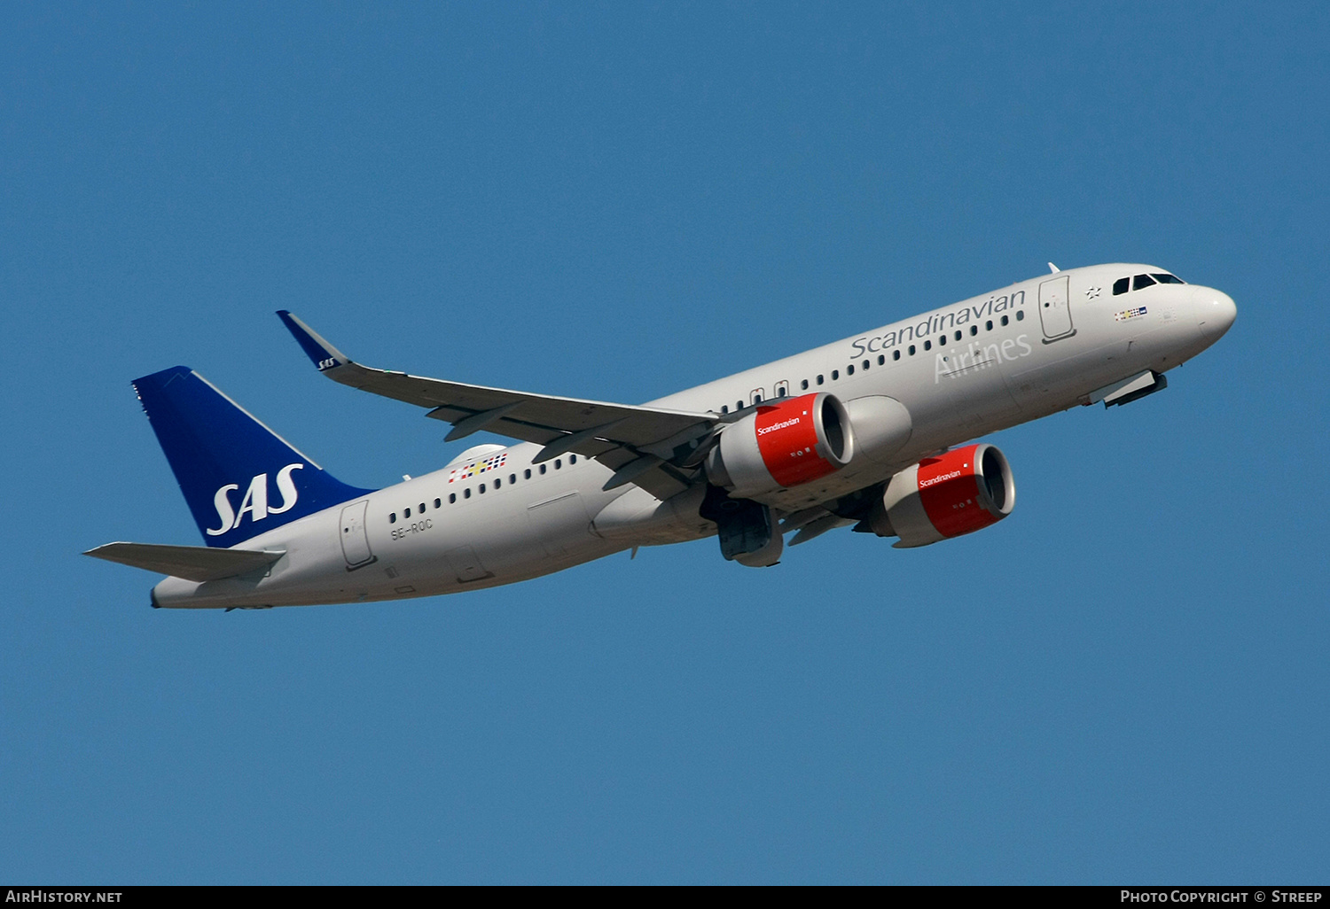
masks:
<instances>
[{"instance_id":1,"label":"white Scandinavian Airlines passenger jet with blue tail, climbing","mask_svg":"<svg viewBox=\"0 0 1330 909\"><path fill-rule=\"evenodd\" d=\"M837 528L926 546L1011 514L1005 456L974 441L1076 405L1129 404L1217 342L1226 294L1149 264L1059 270L641 405L362 365L282 310L334 381L424 409L442 469L343 484L188 367L133 383L205 546L88 556L168 577L153 607L270 609L434 597L640 546L717 537L777 565Z\"/></svg>"}]
</instances>

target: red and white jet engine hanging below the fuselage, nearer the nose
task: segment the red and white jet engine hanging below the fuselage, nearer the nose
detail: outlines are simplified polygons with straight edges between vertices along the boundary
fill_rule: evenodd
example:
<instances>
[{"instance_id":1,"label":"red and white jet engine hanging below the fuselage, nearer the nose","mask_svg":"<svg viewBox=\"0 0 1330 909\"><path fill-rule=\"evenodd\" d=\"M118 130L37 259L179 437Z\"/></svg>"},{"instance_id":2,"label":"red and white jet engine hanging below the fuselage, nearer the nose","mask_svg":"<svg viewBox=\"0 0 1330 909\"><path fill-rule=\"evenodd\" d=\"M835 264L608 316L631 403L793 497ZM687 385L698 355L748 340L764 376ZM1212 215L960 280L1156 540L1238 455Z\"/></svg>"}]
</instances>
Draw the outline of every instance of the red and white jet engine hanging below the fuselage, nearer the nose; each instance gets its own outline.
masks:
<instances>
[{"instance_id":1,"label":"red and white jet engine hanging below the fuselage, nearer the nose","mask_svg":"<svg viewBox=\"0 0 1330 909\"><path fill-rule=\"evenodd\" d=\"M1011 465L992 445L966 445L926 457L891 477L868 526L895 546L927 546L998 524L1016 505Z\"/></svg>"}]
</instances>

